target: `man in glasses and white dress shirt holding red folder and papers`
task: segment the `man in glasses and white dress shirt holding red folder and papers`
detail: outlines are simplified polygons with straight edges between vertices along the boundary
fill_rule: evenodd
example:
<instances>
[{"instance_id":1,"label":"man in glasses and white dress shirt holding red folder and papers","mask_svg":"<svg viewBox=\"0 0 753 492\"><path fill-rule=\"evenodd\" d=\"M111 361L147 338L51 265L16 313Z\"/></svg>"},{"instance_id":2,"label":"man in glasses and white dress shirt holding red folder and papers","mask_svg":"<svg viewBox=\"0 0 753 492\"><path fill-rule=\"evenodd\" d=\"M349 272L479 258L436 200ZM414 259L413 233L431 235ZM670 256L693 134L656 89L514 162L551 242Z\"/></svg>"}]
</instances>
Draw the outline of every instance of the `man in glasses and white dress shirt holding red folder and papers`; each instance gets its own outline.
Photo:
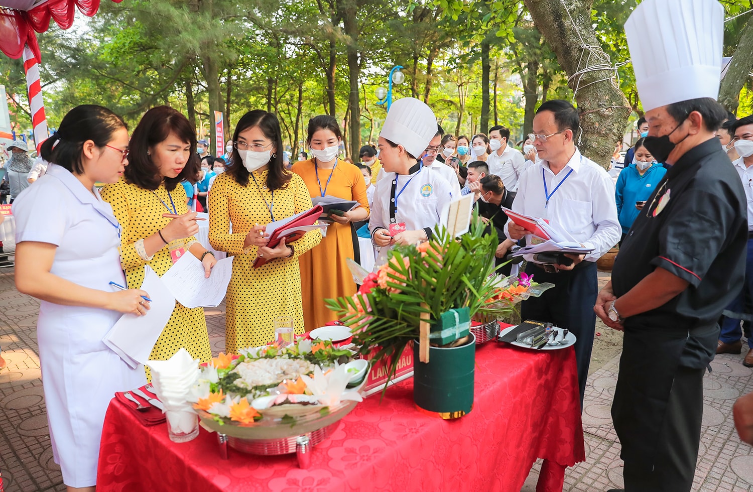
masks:
<instances>
[{"instance_id":1,"label":"man in glasses and white dress shirt holding red folder and papers","mask_svg":"<svg viewBox=\"0 0 753 492\"><path fill-rule=\"evenodd\" d=\"M602 167L575 147L579 127L578 110L567 101L553 99L538 108L532 139L541 161L521 174L512 208L547 219L578 243L593 248L590 255L567 255L572 264L556 265L551 272L530 262L526 274L535 274L538 283L551 282L555 287L540 298L523 301L521 306L523 319L552 322L569 329L578 339L575 359L582 403L596 328L596 260L617 244L622 229L614 203L614 183ZM512 221L505 225L505 234L514 241L527 236L532 243L531 232Z\"/></svg>"}]
</instances>

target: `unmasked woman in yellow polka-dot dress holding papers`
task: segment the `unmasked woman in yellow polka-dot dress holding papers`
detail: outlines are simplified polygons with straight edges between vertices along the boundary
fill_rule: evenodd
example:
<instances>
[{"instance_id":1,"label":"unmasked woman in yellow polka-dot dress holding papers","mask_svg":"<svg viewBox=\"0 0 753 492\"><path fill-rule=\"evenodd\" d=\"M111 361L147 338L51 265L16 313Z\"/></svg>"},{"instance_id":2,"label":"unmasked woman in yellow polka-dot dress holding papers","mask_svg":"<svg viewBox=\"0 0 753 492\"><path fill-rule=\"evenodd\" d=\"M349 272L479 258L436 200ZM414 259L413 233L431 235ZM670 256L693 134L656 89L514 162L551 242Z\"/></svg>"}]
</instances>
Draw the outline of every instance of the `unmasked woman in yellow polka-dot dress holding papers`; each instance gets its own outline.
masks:
<instances>
[{"instance_id":1,"label":"unmasked woman in yellow polka-dot dress holding papers","mask_svg":"<svg viewBox=\"0 0 753 492\"><path fill-rule=\"evenodd\" d=\"M184 253L200 260L209 277L217 260L196 239L196 212L188 211L180 185L196 179L199 170L194 127L173 108L151 108L133 130L128 162L123 177L102 188L102 199L123 226L120 261L128 286L142 285L145 264L162 277ZM201 362L212 357L203 307L189 309L175 301L149 359L169 359L181 347Z\"/></svg>"}]
</instances>

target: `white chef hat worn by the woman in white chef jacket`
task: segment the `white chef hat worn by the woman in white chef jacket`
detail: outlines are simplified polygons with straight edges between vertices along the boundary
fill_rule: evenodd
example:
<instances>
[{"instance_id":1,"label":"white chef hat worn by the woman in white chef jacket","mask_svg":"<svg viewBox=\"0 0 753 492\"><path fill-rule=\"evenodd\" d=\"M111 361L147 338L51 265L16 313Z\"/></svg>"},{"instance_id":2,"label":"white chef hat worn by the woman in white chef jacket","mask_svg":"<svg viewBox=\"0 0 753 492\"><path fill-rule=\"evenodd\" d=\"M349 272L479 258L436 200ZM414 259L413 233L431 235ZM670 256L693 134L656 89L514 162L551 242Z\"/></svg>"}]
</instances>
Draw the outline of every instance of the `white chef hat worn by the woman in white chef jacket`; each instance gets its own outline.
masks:
<instances>
[{"instance_id":1,"label":"white chef hat worn by the woman in white chef jacket","mask_svg":"<svg viewBox=\"0 0 753 492\"><path fill-rule=\"evenodd\" d=\"M420 157L437 133L437 117L425 102L404 97L392 103L380 136Z\"/></svg>"}]
</instances>

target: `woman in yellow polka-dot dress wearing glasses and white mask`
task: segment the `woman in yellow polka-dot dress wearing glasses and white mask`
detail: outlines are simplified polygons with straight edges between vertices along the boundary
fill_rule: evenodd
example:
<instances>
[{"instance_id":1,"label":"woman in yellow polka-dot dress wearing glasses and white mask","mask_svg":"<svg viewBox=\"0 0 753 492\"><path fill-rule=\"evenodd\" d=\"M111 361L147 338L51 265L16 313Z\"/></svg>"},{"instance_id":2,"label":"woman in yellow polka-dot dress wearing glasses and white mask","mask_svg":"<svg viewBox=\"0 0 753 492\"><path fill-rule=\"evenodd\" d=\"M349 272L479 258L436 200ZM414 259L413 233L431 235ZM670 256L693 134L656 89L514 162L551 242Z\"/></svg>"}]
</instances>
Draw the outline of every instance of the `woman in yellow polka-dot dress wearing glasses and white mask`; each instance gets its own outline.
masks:
<instances>
[{"instance_id":1,"label":"woman in yellow polka-dot dress wearing glasses and white mask","mask_svg":"<svg viewBox=\"0 0 753 492\"><path fill-rule=\"evenodd\" d=\"M280 316L292 317L295 332L303 333L298 258L319 244L322 233L316 229L293 243L267 246L270 222L312 206L306 183L282 164L281 135L273 113L243 115L233 133L235 164L215 178L209 193L209 243L235 257L225 298L229 353L273 341ZM256 258L267 262L254 267Z\"/></svg>"}]
</instances>

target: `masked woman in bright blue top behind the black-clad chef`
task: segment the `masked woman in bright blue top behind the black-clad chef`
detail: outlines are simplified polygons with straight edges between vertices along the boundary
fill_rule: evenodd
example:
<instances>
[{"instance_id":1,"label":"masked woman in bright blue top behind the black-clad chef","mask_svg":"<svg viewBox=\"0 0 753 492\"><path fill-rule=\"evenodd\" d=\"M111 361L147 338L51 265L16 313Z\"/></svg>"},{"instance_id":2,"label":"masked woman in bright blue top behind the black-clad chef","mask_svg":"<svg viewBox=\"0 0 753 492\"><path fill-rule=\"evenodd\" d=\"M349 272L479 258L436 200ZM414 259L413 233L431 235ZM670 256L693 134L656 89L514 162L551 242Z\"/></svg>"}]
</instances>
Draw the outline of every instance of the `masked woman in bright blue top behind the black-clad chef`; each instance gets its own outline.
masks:
<instances>
[{"instance_id":1,"label":"masked woman in bright blue top behind the black-clad chef","mask_svg":"<svg viewBox=\"0 0 753 492\"><path fill-rule=\"evenodd\" d=\"M622 226L622 238L625 239L633 222L646 204L648 197L654 193L657 185L666 174L661 164L657 164L651 152L643 146L645 139L638 139L633 147L633 163L626 167L617 177L614 187L614 200L617 202L617 216Z\"/></svg>"}]
</instances>

